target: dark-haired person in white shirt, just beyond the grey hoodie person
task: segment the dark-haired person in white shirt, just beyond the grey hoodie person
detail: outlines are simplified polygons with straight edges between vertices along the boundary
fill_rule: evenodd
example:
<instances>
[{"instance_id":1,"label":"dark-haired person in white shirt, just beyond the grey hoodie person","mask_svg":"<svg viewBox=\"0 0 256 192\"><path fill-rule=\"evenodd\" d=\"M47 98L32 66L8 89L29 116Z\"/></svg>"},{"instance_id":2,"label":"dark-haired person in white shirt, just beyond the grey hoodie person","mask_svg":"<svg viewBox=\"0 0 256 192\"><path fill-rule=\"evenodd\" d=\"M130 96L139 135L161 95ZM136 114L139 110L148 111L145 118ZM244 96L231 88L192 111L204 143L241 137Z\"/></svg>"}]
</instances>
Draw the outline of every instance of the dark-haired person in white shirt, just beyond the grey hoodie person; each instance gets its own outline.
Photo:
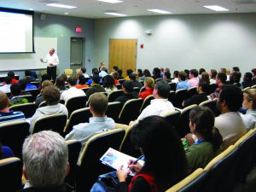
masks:
<instances>
[{"instance_id":1,"label":"dark-haired person in white shirt, just beyond the grey hoodie person","mask_svg":"<svg viewBox=\"0 0 256 192\"><path fill-rule=\"evenodd\" d=\"M75 96L86 96L84 93L84 90L79 90L75 87L76 83L77 83L77 79L74 76L70 76L67 79L67 84L69 89L64 90L61 93L61 100L64 100L65 102L67 102L68 99L73 98Z\"/></svg>"}]
</instances>

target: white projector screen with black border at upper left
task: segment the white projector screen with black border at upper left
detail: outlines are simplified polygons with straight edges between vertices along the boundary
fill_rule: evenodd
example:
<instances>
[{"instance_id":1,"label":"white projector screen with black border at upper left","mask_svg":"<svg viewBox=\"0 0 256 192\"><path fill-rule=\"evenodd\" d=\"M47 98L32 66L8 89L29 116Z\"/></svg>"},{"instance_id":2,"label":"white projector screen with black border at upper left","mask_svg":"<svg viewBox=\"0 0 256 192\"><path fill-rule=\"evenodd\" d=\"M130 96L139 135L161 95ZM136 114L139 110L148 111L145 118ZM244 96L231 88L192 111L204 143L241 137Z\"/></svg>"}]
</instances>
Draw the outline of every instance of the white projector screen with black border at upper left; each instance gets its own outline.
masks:
<instances>
[{"instance_id":1,"label":"white projector screen with black border at upper left","mask_svg":"<svg viewBox=\"0 0 256 192\"><path fill-rule=\"evenodd\" d=\"M33 53L33 11L0 8L0 53Z\"/></svg>"}]
</instances>

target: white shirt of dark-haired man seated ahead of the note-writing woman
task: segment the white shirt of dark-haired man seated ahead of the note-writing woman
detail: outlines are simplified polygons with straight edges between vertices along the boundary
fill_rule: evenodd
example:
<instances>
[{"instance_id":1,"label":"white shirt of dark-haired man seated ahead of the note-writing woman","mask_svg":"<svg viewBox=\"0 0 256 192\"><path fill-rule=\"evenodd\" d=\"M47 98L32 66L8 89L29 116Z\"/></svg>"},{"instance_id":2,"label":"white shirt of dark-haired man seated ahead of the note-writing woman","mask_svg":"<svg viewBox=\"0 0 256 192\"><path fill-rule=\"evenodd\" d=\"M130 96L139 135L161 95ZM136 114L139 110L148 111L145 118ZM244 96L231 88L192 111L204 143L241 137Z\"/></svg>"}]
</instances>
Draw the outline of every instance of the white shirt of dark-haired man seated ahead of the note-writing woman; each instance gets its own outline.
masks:
<instances>
[{"instance_id":1,"label":"white shirt of dark-haired man seated ahead of the note-writing woman","mask_svg":"<svg viewBox=\"0 0 256 192\"><path fill-rule=\"evenodd\" d=\"M172 102L169 102L167 99L153 99L151 100L150 105L143 109L143 112L138 116L137 120L146 118L151 115L162 116L165 113L172 111L175 111Z\"/></svg>"}]
</instances>

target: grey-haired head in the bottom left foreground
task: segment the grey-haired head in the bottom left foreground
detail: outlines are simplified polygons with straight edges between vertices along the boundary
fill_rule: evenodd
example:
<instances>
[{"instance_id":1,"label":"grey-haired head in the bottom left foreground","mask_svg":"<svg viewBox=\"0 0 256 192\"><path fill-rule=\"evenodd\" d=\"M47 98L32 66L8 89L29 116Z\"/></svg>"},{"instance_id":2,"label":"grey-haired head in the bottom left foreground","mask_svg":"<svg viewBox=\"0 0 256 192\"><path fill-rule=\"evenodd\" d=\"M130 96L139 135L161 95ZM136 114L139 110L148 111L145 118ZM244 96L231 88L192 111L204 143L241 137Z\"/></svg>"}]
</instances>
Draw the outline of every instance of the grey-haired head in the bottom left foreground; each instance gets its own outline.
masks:
<instances>
[{"instance_id":1,"label":"grey-haired head in the bottom left foreground","mask_svg":"<svg viewBox=\"0 0 256 192\"><path fill-rule=\"evenodd\" d=\"M26 138L22 148L23 173L32 187L60 186L69 171L68 148L54 131L40 131Z\"/></svg>"}]
</instances>

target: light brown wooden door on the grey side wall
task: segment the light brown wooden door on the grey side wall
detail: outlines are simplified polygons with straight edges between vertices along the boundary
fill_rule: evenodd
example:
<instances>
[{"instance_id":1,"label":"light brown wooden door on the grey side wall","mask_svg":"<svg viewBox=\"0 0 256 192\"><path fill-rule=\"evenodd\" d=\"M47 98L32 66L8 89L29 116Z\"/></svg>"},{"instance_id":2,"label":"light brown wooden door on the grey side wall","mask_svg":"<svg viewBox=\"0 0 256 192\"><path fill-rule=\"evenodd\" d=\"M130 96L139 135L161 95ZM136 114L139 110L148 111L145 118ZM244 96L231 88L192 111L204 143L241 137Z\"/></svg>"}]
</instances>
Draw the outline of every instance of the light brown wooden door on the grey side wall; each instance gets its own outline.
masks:
<instances>
[{"instance_id":1,"label":"light brown wooden door on the grey side wall","mask_svg":"<svg viewBox=\"0 0 256 192\"><path fill-rule=\"evenodd\" d=\"M126 70L135 71L137 61L137 39L109 39L109 66L111 73L113 66L123 70L123 77L126 77Z\"/></svg>"}]
</instances>

